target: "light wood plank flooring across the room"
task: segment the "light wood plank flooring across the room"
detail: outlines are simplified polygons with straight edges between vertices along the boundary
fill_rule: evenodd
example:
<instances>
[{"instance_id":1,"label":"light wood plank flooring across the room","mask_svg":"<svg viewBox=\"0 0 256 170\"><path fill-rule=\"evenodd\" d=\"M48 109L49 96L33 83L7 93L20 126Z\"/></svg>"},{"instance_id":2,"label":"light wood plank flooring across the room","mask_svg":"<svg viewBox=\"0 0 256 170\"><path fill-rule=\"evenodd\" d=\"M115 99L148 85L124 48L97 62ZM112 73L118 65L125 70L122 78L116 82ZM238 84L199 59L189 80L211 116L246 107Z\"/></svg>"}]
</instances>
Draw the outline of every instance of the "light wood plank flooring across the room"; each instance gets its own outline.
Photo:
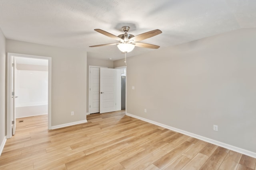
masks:
<instances>
[{"instance_id":1,"label":"light wood plank flooring across the room","mask_svg":"<svg viewBox=\"0 0 256 170\"><path fill-rule=\"evenodd\" d=\"M18 123L20 120L24 122ZM256 170L256 159L125 115L47 130L47 115L17 119L0 169Z\"/></svg>"}]
</instances>

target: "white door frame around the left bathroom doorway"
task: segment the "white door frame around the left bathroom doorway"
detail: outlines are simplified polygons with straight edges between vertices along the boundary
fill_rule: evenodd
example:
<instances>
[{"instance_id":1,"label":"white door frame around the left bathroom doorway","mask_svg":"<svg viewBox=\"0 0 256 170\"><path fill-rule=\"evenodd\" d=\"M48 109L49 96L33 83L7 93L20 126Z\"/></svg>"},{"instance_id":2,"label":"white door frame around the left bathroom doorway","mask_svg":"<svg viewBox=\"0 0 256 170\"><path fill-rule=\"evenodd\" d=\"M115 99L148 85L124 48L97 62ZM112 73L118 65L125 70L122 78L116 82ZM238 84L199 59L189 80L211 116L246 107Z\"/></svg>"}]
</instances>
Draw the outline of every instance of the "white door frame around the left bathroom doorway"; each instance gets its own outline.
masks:
<instances>
[{"instance_id":1,"label":"white door frame around the left bathroom doorway","mask_svg":"<svg viewBox=\"0 0 256 170\"><path fill-rule=\"evenodd\" d=\"M11 80L11 69L12 69L12 57L25 57L25 58L32 58L32 59L44 59L48 60L48 129L52 129L52 58L51 57L44 57L44 56L36 56L36 55L25 55L25 54L18 54L18 53L7 53L7 89L6 89L6 138L12 137L12 80Z\"/></svg>"}]
</instances>

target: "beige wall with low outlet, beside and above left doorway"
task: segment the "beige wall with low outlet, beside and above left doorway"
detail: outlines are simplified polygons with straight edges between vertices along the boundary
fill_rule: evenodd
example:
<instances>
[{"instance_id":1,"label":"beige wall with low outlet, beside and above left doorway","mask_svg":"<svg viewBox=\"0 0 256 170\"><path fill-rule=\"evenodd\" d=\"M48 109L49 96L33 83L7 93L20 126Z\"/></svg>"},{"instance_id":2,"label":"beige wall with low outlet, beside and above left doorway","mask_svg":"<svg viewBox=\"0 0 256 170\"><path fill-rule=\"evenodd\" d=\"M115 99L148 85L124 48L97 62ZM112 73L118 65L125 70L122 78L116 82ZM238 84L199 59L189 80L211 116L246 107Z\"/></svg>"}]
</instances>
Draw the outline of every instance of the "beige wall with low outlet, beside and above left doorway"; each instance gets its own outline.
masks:
<instances>
[{"instance_id":1,"label":"beige wall with low outlet, beside and above left doorway","mask_svg":"<svg viewBox=\"0 0 256 170\"><path fill-rule=\"evenodd\" d=\"M86 119L86 51L7 39L6 52L52 57L52 126Z\"/></svg>"}]
</instances>

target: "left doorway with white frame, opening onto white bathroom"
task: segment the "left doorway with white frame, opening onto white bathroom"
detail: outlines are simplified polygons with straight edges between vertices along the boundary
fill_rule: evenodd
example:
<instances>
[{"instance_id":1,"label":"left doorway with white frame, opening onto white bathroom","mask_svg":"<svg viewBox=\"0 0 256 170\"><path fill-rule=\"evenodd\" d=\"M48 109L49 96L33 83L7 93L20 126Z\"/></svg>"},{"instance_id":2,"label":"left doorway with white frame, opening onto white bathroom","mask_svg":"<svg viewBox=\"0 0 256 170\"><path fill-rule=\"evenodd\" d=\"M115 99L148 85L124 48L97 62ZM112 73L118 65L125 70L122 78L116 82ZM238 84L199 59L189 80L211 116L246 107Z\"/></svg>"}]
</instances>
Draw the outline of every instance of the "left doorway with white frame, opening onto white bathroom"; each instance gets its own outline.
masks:
<instances>
[{"instance_id":1,"label":"left doorway with white frame, opening onto white bathroom","mask_svg":"<svg viewBox=\"0 0 256 170\"><path fill-rule=\"evenodd\" d=\"M51 57L8 53L7 138L15 134L17 116L46 112L51 129Z\"/></svg>"}]
</instances>

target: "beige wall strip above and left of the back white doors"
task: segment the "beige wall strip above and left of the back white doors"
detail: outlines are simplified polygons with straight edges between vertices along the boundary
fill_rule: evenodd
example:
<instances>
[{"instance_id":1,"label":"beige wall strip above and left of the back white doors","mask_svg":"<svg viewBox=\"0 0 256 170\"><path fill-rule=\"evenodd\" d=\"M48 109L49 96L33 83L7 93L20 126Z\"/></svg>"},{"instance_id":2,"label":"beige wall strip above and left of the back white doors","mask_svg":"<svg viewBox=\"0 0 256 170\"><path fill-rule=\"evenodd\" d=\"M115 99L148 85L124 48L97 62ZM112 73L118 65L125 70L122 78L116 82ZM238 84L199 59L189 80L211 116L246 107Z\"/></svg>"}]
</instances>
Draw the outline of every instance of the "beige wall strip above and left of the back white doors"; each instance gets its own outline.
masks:
<instances>
[{"instance_id":1,"label":"beige wall strip above and left of the back white doors","mask_svg":"<svg viewBox=\"0 0 256 170\"><path fill-rule=\"evenodd\" d=\"M89 106L89 66L101 66L101 67L107 67L107 68L114 68L113 67L113 61L112 60L100 60L100 59L93 59L90 57L87 57L87 105ZM89 108L87 107L86 113L89 112Z\"/></svg>"}]
</instances>

